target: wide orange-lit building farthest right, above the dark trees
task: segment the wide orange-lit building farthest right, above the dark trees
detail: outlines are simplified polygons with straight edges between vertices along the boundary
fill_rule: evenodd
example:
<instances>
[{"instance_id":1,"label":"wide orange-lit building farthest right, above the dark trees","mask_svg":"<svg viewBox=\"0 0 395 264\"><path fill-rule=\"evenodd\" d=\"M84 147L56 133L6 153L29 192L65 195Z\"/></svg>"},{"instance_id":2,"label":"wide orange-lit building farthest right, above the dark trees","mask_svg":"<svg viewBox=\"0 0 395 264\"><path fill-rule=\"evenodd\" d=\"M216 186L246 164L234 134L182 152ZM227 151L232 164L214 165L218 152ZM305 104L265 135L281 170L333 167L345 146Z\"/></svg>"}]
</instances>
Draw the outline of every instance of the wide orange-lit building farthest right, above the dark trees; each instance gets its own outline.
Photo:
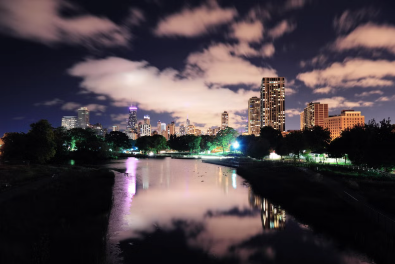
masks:
<instances>
[{"instance_id":1,"label":"wide orange-lit building farthest right, above the dark trees","mask_svg":"<svg viewBox=\"0 0 395 264\"><path fill-rule=\"evenodd\" d=\"M340 133L346 128L353 128L356 124L364 124L365 116L354 110L342 110L340 115L331 115L324 118L324 128L328 128L332 140L340 137Z\"/></svg>"}]
</instances>

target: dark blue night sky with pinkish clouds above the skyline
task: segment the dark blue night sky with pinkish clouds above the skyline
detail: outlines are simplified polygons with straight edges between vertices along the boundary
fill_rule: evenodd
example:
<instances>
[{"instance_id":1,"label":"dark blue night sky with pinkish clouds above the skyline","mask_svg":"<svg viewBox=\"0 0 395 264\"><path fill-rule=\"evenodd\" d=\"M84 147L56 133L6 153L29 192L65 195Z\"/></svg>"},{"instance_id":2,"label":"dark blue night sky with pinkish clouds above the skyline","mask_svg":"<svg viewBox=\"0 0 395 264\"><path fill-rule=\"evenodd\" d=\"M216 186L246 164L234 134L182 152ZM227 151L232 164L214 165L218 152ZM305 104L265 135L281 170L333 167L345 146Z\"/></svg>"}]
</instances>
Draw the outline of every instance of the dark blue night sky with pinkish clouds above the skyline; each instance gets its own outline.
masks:
<instances>
[{"instance_id":1,"label":"dark blue night sky with pinkish clouds above the skyline","mask_svg":"<svg viewBox=\"0 0 395 264\"><path fill-rule=\"evenodd\" d=\"M245 125L264 76L286 78L286 129L307 102L395 120L392 0L0 0L0 135L86 106L204 131ZM394 122L394 121L393 121ZM177 128L178 131L178 128Z\"/></svg>"}]
</instances>

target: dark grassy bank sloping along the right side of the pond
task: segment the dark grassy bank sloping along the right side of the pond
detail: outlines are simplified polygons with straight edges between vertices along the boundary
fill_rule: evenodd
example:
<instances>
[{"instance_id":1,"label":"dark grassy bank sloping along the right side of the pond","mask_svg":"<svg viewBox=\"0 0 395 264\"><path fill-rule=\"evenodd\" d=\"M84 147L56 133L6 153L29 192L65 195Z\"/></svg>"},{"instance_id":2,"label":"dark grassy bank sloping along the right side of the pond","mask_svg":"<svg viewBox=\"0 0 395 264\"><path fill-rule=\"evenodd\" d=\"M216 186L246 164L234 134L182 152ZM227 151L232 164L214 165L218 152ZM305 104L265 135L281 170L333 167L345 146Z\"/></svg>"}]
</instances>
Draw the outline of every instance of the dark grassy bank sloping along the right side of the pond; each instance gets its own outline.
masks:
<instances>
[{"instance_id":1,"label":"dark grassy bank sloping along the right side of the pond","mask_svg":"<svg viewBox=\"0 0 395 264\"><path fill-rule=\"evenodd\" d=\"M344 201L333 186L310 179L296 167L240 168L254 192L280 204L301 223L358 249L376 263L394 263L394 237Z\"/></svg>"}]
</instances>

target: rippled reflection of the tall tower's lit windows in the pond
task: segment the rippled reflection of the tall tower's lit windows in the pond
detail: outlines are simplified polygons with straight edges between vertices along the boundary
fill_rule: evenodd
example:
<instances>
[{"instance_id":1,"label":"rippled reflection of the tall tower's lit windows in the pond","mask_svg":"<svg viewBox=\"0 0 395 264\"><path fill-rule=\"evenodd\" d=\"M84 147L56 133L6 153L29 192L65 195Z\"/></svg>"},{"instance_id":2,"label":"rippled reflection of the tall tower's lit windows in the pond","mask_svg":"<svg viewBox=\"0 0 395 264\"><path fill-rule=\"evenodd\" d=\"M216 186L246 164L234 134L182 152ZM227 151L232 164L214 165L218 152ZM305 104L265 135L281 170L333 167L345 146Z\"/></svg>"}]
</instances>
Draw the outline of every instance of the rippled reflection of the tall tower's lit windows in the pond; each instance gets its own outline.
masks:
<instances>
[{"instance_id":1,"label":"rippled reflection of the tall tower's lit windows in the pond","mask_svg":"<svg viewBox=\"0 0 395 264\"><path fill-rule=\"evenodd\" d=\"M263 229L285 229L285 210L268 199L256 195L248 189L248 201L253 208L261 209L261 221Z\"/></svg>"}]
</instances>

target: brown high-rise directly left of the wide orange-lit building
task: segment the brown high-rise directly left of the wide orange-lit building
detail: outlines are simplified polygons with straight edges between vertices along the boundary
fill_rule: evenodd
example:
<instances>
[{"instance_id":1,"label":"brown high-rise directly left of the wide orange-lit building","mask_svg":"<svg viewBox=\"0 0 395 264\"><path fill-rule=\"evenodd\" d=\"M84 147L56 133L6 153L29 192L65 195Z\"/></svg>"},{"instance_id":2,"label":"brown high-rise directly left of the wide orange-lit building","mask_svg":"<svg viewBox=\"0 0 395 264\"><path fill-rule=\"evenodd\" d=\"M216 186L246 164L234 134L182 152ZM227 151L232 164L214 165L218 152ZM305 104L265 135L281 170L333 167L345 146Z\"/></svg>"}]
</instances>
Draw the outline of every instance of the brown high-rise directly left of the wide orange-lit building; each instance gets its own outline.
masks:
<instances>
[{"instance_id":1,"label":"brown high-rise directly left of the wide orange-lit building","mask_svg":"<svg viewBox=\"0 0 395 264\"><path fill-rule=\"evenodd\" d=\"M301 129L313 126L324 126L324 118L328 117L328 104L309 103L303 112L303 123L300 124Z\"/></svg>"}]
</instances>

